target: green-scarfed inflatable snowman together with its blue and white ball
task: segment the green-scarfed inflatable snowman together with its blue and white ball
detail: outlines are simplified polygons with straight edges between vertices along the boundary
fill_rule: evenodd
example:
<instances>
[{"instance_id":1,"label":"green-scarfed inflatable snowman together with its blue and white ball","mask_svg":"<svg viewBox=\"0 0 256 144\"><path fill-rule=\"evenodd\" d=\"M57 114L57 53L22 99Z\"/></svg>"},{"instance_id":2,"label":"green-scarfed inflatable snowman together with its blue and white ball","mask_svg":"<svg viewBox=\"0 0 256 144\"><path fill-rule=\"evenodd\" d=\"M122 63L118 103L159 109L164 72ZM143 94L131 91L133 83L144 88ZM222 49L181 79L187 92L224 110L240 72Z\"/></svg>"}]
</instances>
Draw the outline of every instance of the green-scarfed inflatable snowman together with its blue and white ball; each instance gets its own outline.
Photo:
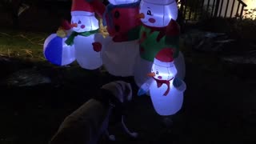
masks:
<instances>
[{"instance_id":1,"label":"green-scarfed inflatable snowman together with its blue and white ball","mask_svg":"<svg viewBox=\"0 0 256 144\"><path fill-rule=\"evenodd\" d=\"M102 66L102 34L95 13L102 16L105 6L98 0L73 0L71 23L62 21L56 34L46 39L44 55L59 66L77 60L79 66L94 70ZM98 9L98 7L101 7ZM102 33L102 34L101 34Z\"/></svg>"}]
</instances>

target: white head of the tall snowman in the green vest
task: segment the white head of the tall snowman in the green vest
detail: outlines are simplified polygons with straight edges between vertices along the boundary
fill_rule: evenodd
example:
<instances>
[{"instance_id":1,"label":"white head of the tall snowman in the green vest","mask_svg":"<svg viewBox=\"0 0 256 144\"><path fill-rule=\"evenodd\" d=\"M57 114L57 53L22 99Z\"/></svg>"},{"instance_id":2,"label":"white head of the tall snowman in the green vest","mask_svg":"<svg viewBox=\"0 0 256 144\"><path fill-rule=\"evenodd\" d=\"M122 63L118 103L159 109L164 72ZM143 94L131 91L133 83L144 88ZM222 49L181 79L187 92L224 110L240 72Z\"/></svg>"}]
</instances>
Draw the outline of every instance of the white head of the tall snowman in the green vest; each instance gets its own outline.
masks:
<instances>
[{"instance_id":1,"label":"white head of the tall snowman in the green vest","mask_svg":"<svg viewBox=\"0 0 256 144\"><path fill-rule=\"evenodd\" d=\"M142 0L139 13L144 25L164 27L171 19L177 19L178 6L175 0Z\"/></svg>"}]
</instances>

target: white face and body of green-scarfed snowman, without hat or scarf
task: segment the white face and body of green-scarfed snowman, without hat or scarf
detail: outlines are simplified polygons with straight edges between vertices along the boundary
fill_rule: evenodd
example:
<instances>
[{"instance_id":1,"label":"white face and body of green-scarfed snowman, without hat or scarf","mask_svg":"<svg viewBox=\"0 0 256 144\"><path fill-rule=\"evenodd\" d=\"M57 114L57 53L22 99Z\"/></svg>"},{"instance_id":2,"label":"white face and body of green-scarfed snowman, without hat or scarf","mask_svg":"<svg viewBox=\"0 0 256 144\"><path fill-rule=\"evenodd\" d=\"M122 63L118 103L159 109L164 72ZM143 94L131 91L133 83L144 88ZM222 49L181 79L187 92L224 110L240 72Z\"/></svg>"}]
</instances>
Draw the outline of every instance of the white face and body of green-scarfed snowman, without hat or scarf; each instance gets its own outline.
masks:
<instances>
[{"instance_id":1,"label":"white face and body of green-scarfed snowman, without hat or scarf","mask_svg":"<svg viewBox=\"0 0 256 144\"><path fill-rule=\"evenodd\" d=\"M94 13L74 10L71 11L71 24L74 26L73 31L77 33L89 32L98 30L98 19ZM88 36L77 35L74 38L75 58L84 69L95 70L102 66L101 52L95 51L93 43L101 42L101 34L90 34Z\"/></svg>"}]
</instances>

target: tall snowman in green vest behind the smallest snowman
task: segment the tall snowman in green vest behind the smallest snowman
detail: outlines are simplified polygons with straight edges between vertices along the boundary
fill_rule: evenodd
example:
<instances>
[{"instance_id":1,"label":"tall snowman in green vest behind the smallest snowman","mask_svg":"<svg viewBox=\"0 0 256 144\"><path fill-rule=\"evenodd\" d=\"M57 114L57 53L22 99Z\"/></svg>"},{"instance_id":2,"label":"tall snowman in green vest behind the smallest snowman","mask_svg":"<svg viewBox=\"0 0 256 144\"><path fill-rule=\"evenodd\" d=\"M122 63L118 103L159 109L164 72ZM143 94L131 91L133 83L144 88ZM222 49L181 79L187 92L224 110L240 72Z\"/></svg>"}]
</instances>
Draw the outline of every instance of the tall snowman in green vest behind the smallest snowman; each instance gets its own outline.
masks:
<instances>
[{"instance_id":1,"label":"tall snowman in green vest behind the smallest snowman","mask_svg":"<svg viewBox=\"0 0 256 144\"><path fill-rule=\"evenodd\" d=\"M185 76L185 62L178 50L179 26L175 20L178 17L178 6L175 0L142 0L140 3L142 28L140 30L140 56L134 67L134 81L138 87L146 81L150 73L154 57L159 50L169 47L174 49L174 64L177 67L177 77Z\"/></svg>"}]
</instances>

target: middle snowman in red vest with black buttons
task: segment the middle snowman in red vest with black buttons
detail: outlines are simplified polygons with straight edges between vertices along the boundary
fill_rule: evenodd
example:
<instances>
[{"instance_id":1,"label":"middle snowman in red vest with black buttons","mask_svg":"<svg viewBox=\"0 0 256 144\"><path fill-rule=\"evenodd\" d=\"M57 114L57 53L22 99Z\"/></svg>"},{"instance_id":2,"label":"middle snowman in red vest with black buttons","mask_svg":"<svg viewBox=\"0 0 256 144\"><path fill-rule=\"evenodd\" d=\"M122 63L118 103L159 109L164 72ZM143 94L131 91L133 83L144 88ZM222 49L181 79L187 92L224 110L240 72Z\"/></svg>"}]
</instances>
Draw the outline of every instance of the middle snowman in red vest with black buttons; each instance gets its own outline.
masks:
<instances>
[{"instance_id":1,"label":"middle snowman in red vest with black buttons","mask_svg":"<svg viewBox=\"0 0 256 144\"><path fill-rule=\"evenodd\" d=\"M109 33L104 39L102 62L106 70L114 75L134 75L134 62L138 57L138 32L141 26L136 18L139 0L109 0L103 14L103 25Z\"/></svg>"}]
</instances>

